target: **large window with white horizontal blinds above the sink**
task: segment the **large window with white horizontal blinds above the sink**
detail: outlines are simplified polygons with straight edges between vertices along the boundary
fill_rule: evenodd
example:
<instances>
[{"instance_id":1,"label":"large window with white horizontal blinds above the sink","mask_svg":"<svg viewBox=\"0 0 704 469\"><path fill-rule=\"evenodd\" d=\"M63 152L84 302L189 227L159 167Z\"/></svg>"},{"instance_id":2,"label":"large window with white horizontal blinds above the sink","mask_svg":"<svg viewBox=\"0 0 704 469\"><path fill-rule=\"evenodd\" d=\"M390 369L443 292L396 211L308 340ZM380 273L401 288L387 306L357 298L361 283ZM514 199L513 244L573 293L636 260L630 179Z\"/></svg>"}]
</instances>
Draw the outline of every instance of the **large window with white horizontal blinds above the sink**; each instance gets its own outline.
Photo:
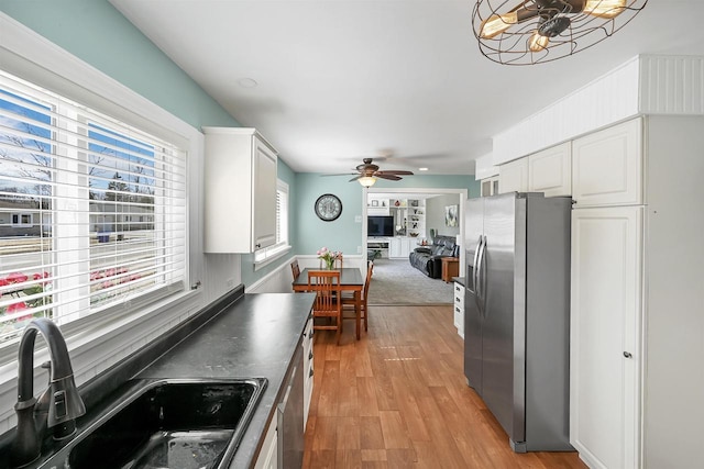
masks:
<instances>
[{"instance_id":1,"label":"large window with white horizontal blinds above the sink","mask_svg":"<svg viewBox=\"0 0 704 469\"><path fill-rule=\"evenodd\" d=\"M184 289L185 152L0 72L0 340Z\"/></svg>"}]
</instances>

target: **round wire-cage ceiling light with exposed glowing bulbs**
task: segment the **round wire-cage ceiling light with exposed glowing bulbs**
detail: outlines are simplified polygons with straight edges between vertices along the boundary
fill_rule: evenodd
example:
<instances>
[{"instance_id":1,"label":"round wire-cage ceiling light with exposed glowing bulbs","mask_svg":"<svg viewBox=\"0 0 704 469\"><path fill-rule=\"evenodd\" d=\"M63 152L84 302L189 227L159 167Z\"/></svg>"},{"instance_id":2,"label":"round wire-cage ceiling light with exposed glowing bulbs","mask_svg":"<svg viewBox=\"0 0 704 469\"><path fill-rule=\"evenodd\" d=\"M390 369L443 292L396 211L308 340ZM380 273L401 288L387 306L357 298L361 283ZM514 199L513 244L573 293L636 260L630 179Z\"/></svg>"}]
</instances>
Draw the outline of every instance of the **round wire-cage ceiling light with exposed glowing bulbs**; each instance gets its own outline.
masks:
<instances>
[{"instance_id":1,"label":"round wire-cage ceiling light with exposed glowing bulbs","mask_svg":"<svg viewBox=\"0 0 704 469\"><path fill-rule=\"evenodd\" d=\"M477 0L472 26L488 59L532 65L604 41L646 3L648 0Z\"/></svg>"}]
</instances>

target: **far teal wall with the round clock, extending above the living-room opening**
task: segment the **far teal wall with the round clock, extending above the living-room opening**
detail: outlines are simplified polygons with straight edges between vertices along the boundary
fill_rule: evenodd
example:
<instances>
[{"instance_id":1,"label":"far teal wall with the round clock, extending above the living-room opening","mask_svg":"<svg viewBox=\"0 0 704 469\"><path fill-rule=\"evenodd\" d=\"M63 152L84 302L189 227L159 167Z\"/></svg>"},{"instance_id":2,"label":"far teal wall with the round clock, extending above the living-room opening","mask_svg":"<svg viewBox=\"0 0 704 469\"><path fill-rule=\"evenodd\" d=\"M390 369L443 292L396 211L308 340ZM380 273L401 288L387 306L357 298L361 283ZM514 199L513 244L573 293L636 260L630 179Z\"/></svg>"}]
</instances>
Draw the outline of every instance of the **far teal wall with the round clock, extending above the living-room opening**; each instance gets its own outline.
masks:
<instances>
[{"instance_id":1,"label":"far teal wall with the round clock, extending above the living-room opening","mask_svg":"<svg viewBox=\"0 0 704 469\"><path fill-rule=\"evenodd\" d=\"M354 217L362 215L363 189L349 179L349 176L310 172L296 175L297 254L315 254L326 246L355 255L358 246L362 246L362 223L355 223ZM474 176L409 176L394 182L378 180L374 188L466 189L470 198L480 196L480 183ZM316 199L323 193L333 193L342 201L342 214L333 222L321 221L314 211Z\"/></svg>"}]
</instances>

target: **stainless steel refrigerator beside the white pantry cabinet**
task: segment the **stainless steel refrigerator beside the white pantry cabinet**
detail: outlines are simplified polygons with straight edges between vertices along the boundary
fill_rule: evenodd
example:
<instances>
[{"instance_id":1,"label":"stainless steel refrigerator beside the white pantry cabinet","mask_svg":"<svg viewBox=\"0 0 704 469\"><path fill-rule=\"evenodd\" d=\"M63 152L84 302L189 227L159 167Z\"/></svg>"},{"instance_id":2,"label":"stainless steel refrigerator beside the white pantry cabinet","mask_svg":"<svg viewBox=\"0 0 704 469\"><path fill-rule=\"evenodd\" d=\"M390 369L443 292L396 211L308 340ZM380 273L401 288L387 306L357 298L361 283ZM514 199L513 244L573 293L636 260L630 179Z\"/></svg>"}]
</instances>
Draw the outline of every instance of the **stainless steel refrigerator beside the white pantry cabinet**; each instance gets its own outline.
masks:
<instances>
[{"instance_id":1,"label":"stainless steel refrigerator beside the white pantry cabinet","mask_svg":"<svg viewBox=\"0 0 704 469\"><path fill-rule=\"evenodd\" d=\"M464 373L517 453L572 450L570 198L471 199Z\"/></svg>"}]
</instances>

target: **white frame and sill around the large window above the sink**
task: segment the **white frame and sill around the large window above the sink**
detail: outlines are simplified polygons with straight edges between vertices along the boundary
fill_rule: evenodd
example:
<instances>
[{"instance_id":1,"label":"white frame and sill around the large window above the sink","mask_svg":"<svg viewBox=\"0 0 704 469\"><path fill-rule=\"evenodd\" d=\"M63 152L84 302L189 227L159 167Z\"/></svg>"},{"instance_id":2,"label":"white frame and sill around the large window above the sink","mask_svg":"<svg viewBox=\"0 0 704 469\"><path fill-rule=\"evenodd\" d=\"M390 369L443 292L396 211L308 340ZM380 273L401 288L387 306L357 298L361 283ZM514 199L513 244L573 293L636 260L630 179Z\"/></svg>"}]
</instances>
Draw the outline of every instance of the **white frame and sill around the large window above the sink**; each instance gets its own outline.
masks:
<instances>
[{"instance_id":1,"label":"white frame and sill around the large window above the sink","mask_svg":"<svg viewBox=\"0 0 704 469\"><path fill-rule=\"evenodd\" d=\"M7 72L182 147L187 155L186 220L199 213L204 136L197 129L3 13L0 14L0 30L3 31L0 64ZM147 345L166 328L186 321L205 305L202 290L189 288L200 284L205 269L199 249L202 231L197 219L196 223L186 223L189 230L185 234L185 289L177 292L165 288L155 292L148 304L136 304L139 301L131 304L135 308L125 314L92 315L81 321L80 327L76 323L61 326L79 384L135 348ZM0 348L0 386L16 379L19 340L8 340ZM37 351L36 368L46 357L46 349ZM6 400L6 394L1 393L0 398Z\"/></svg>"}]
</instances>

